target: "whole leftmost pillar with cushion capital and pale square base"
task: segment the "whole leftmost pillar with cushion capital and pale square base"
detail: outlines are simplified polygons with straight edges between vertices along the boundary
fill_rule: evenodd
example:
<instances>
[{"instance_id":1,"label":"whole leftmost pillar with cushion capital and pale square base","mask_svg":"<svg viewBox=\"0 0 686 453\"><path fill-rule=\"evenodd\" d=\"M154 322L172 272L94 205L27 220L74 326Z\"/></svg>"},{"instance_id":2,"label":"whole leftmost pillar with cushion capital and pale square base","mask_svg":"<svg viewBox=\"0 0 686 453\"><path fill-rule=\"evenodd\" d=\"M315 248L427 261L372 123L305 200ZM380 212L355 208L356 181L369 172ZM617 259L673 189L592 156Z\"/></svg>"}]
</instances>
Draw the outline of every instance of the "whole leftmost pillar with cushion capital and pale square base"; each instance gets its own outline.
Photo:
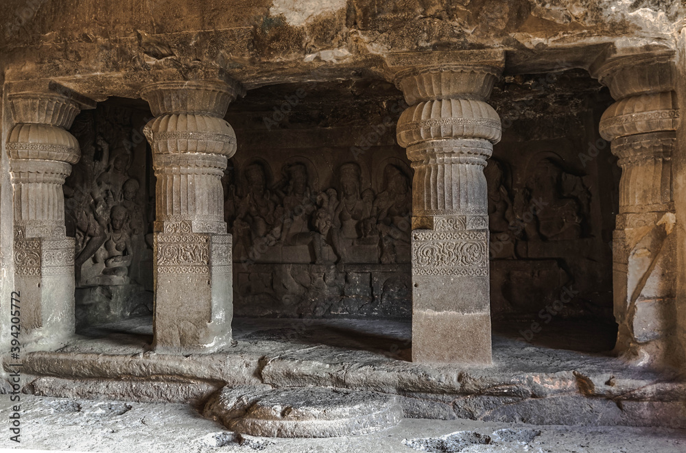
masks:
<instances>
[{"instance_id":1,"label":"whole leftmost pillar with cushion capital and pale square base","mask_svg":"<svg viewBox=\"0 0 686 453\"><path fill-rule=\"evenodd\" d=\"M14 188L14 291L22 343L58 347L74 332L74 240L64 227L62 184L80 158L67 132L95 103L64 87L8 96L14 119L5 147Z\"/></svg>"}]
</instances>

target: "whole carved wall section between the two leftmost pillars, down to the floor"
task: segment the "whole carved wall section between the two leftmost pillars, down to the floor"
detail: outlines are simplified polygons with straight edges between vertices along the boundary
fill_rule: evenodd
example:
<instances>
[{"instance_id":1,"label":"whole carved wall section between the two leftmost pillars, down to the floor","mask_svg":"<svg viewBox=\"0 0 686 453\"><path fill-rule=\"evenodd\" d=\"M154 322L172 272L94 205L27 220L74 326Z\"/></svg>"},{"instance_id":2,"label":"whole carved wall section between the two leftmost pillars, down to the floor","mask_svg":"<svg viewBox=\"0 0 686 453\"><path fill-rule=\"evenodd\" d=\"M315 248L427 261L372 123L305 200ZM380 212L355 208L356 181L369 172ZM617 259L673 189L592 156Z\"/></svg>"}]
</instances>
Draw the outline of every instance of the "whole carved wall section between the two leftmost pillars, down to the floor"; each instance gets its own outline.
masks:
<instances>
[{"instance_id":1,"label":"whole carved wall section between the two leftmost pillars, down to the floor","mask_svg":"<svg viewBox=\"0 0 686 453\"><path fill-rule=\"evenodd\" d=\"M64 184L78 326L149 312L154 198L144 124L145 112L106 102L70 130L82 153Z\"/></svg>"}]
</instances>

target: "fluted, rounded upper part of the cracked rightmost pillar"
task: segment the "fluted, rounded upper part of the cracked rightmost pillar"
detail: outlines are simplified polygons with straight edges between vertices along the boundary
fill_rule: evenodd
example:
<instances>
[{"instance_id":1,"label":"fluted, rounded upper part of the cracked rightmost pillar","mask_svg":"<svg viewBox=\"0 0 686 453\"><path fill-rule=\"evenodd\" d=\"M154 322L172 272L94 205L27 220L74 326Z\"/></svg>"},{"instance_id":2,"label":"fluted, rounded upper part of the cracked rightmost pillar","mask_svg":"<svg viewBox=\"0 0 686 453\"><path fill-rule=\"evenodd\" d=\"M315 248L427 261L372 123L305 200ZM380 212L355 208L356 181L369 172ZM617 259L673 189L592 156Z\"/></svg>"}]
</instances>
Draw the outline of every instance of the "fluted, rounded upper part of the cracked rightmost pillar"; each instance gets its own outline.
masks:
<instances>
[{"instance_id":1,"label":"fluted, rounded upper part of the cracked rightmost pillar","mask_svg":"<svg viewBox=\"0 0 686 453\"><path fill-rule=\"evenodd\" d=\"M623 170L620 214L673 209L671 160L680 123L674 53L614 58L595 75L616 100L600 119L600 134L611 140Z\"/></svg>"}]
</instances>

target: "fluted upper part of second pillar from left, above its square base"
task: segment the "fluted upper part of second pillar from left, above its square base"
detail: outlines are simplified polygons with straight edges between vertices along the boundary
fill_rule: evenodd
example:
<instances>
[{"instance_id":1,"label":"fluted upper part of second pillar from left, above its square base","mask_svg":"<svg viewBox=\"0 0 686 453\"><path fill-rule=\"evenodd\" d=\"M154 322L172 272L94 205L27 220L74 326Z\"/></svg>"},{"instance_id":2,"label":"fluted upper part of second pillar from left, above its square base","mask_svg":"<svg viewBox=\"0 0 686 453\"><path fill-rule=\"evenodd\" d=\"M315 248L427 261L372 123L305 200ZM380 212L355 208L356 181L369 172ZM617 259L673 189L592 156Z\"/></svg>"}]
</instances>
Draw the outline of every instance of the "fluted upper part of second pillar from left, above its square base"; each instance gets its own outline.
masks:
<instances>
[{"instance_id":1,"label":"fluted upper part of second pillar from left, above its square base","mask_svg":"<svg viewBox=\"0 0 686 453\"><path fill-rule=\"evenodd\" d=\"M144 130L158 178L156 231L176 230L182 221L193 232L226 232L220 180L235 154L236 134L224 115L244 93L237 82L204 80L156 82L141 90L156 116Z\"/></svg>"}]
</instances>

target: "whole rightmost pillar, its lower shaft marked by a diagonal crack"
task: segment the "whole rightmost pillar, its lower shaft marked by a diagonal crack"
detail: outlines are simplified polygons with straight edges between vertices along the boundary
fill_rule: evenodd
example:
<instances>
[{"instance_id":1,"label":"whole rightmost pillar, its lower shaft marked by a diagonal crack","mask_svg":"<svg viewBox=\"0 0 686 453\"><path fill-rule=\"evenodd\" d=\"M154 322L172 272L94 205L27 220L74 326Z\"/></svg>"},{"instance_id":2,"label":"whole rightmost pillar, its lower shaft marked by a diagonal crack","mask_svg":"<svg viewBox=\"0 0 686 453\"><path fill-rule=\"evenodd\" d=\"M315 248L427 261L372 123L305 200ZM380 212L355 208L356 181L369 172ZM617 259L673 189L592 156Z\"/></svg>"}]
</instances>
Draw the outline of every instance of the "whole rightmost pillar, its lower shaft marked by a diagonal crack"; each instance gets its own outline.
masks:
<instances>
[{"instance_id":1,"label":"whole rightmost pillar, its lower shaft marked by a diagonal crack","mask_svg":"<svg viewBox=\"0 0 686 453\"><path fill-rule=\"evenodd\" d=\"M672 150L679 111L672 53L609 60L597 76L616 102L600 134L619 158L619 214L613 236L615 350L639 365L674 356L676 216Z\"/></svg>"}]
</instances>

